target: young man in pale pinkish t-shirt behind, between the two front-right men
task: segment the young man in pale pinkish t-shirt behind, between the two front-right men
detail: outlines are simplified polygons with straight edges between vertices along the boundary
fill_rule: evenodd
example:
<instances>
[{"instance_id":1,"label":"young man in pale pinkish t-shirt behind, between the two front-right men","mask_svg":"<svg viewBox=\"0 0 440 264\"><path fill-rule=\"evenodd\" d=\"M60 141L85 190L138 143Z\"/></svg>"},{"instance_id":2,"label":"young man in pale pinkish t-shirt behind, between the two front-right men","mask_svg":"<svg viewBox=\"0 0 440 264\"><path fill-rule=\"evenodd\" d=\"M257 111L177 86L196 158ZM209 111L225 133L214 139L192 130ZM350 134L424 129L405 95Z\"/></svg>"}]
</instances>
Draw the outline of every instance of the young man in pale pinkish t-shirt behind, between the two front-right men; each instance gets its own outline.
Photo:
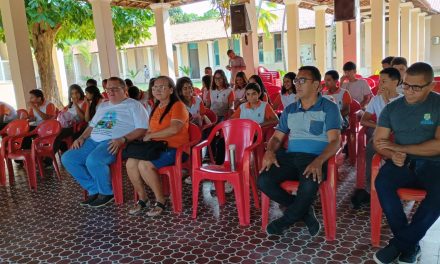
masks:
<instances>
[{"instance_id":1,"label":"young man in pale pinkish t-shirt behind, between the two front-right men","mask_svg":"<svg viewBox=\"0 0 440 264\"><path fill-rule=\"evenodd\" d=\"M365 80L356 78L356 64L349 61L344 64L344 76L341 78L341 88L350 93L352 99L359 102L365 109L373 93ZM347 81L348 80L348 81Z\"/></svg>"}]
</instances>

